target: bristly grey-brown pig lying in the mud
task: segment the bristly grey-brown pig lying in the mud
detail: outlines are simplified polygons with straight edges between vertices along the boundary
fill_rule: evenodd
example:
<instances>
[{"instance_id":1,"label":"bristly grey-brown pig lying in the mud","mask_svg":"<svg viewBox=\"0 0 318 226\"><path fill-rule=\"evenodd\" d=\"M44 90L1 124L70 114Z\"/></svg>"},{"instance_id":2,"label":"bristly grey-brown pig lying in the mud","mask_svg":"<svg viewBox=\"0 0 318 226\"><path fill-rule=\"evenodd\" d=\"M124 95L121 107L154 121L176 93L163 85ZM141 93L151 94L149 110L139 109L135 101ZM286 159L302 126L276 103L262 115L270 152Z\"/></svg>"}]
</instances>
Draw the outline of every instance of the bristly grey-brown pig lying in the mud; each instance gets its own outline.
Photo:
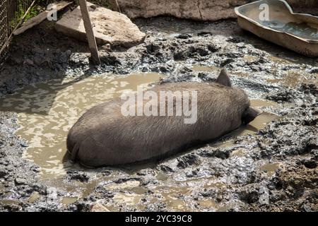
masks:
<instances>
[{"instance_id":1,"label":"bristly grey-brown pig lying in the mud","mask_svg":"<svg viewBox=\"0 0 318 226\"><path fill-rule=\"evenodd\" d=\"M165 83L152 89L155 93L176 90L196 91L194 123L185 124L184 114L124 116L124 100L110 100L89 109L69 131L66 145L71 160L87 167L158 160L213 141L260 114L250 106L244 90L232 87L225 69L214 82Z\"/></svg>"}]
</instances>

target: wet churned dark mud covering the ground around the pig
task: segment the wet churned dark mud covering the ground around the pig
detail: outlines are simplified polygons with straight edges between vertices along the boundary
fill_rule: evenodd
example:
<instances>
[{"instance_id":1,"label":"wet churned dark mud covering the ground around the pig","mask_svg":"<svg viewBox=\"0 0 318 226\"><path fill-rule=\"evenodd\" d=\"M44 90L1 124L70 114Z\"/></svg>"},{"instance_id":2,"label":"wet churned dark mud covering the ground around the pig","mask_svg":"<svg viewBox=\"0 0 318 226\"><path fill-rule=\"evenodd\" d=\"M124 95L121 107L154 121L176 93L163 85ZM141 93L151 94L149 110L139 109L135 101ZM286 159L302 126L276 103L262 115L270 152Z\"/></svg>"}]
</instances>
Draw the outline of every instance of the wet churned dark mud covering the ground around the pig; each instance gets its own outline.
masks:
<instances>
[{"instance_id":1,"label":"wet churned dark mud covering the ground around the pig","mask_svg":"<svg viewBox=\"0 0 318 226\"><path fill-rule=\"evenodd\" d=\"M90 64L85 44L57 34L52 23L13 43L0 69L0 210L317 211L318 59L260 40L242 31L236 20L134 22L146 32L146 41L112 52L100 47L100 66ZM157 85L204 82L213 81L221 67L264 113L218 141L158 162L99 169L69 165L54 178L43 177L43 165L25 156L32 139L23 139L18 130L21 114L32 113L32 107L8 105L21 93L18 88L37 95L32 87L45 81L75 79L63 87L68 89L87 79L161 73ZM58 96L51 105L42 101L33 108L53 106Z\"/></svg>"}]
</instances>

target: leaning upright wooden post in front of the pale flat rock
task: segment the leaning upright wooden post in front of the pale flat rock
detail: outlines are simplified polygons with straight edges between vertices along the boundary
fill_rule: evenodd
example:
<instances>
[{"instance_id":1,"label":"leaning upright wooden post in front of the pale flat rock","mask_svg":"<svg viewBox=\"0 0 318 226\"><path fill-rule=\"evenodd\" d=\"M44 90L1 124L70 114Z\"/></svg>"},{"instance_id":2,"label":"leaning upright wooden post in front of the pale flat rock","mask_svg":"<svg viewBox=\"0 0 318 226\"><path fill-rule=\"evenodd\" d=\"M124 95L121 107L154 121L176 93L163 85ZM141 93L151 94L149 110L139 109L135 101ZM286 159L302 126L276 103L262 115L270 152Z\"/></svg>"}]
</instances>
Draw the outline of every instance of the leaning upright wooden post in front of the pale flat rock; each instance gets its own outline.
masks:
<instances>
[{"instance_id":1,"label":"leaning upright wooden post in front of the pale flat rock","mask_svg":"<svg viewBox=\"0 0 318 226\"><path fill-rule=\"evenodd\" d=\"M95 64L100 64L100 56L98 54L98 47L95 40L93 26L90 22L90 15L88 13L86 0L78 0L78 3L81 7L82 17L84 20L84 26L86 30L86 37L88 40L88 45L90 47L90 53L92 54L92 58L93 61L95 61Z\"/></svg>"}]
</instances>

